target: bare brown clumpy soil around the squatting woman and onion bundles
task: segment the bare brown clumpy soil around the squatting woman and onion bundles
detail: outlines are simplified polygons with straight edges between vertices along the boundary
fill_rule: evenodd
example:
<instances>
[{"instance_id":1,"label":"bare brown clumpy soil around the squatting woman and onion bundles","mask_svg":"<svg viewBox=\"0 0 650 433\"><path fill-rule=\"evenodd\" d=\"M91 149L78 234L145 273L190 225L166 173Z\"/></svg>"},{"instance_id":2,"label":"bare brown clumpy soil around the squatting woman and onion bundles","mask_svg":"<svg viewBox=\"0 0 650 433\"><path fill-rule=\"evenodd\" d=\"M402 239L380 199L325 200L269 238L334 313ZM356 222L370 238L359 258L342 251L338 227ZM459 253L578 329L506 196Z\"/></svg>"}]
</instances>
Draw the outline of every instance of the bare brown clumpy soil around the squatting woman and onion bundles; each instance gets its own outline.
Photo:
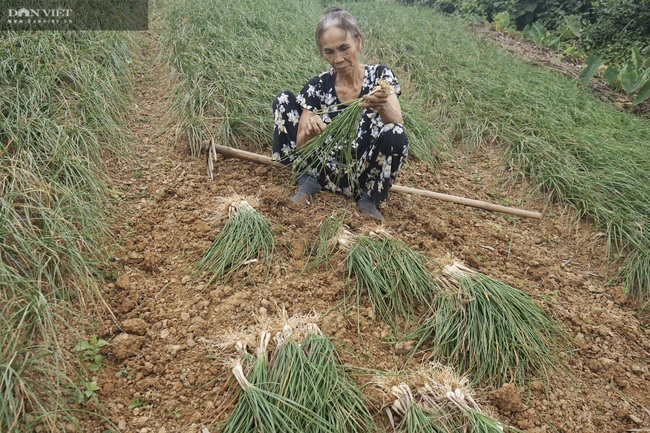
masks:
<instances>
[{"instance_id":1,"label":"bare brown clumpy soil around the squatting woman and onion bundles","mask_svg":"<svg viewBox=\"0 0 650 433\"><path fill-rule=\"evenodd\" d=\"M288 315L329 312L321 327L350 364L403 366L406 348L384 338L388 328L371 317L367 305L342 313L343 263L302 274L305 248L320 221L339 211L355 232L381 227L429 257L452 254L526 290L570 333L567 369L551 377L548 392L536 380L479 392L500 420L531 433L650 427L650 330L621 287L610 284L613 266L601 234L589 222L574 222L571 212L532 197L525 184L506 182L509 174L496 151L459 155L436 169L411 160L398 183L541 211L542 220L400 194L390 197L382 224L361 218L354 202L329 193L309 207L290 209L285 198L293 188L280 169L220 158L214 180L206 176L205 161L189 157L173 117L165 120L168 73L155 64L153 46L145 51L148 66L135 80L130 114L134 159L116 163L111 174L123 200L114 224L117 278L105 284L116 321L107 316L100 332L113 345L97 376L99 401L120 431L216 431L211 423L228 414L223 385L229 372L211 356L211 342L281 309ZM219 233L226 204L236 198L273 223L277 255L271 275L264 282L251 265L229 285L206 284L187 269ZM380 419L379 408L377 413ZM99 422L88 431L108 426Z\"/></svg>"}]
</instances>

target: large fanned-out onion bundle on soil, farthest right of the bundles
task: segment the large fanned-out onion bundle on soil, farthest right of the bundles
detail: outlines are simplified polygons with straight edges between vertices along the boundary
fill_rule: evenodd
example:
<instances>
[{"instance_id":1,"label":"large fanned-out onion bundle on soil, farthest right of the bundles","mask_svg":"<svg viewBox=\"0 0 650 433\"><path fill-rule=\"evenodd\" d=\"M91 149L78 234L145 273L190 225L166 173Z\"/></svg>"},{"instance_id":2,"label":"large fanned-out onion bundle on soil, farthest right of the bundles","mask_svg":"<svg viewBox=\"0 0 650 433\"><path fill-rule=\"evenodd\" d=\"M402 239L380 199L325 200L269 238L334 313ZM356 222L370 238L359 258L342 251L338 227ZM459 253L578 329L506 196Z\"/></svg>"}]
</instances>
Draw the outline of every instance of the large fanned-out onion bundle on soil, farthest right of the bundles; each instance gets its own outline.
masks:
<instances>
[{"instance_id":1,"label":"large fanned-out onion bundle on soil, farthest right of the bundles","mask_svg":"<svg viewBox=\"0 0 650 433\"><path fill-rule=\"evenodd\" d=\"M409 336L414 351L428 342L434 360L492 386L559 364L568 337L529 294L459 263L444 266L439 281L446 290Z\"/></svg>"}]
</instances>

